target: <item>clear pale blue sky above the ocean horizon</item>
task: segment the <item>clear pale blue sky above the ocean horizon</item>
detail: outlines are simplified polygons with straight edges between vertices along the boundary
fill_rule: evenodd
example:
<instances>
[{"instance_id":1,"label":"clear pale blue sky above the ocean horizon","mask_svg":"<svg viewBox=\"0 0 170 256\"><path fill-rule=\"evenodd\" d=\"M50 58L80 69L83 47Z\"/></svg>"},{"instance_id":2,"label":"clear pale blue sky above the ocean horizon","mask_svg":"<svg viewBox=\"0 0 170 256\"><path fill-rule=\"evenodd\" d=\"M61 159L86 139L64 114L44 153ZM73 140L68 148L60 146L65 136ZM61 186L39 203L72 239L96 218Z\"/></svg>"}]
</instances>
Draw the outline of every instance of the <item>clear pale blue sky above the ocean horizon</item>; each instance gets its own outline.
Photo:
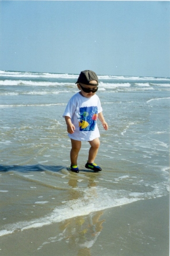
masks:
<instances>
[{"instance_id":1,"label":"clear pale blue sky above the ocean horizon","mask_svg":"<svg viewBox=\"0 0 170 256\"><path fill-rule=\"evenodd\" d=\"M0 70L170 76L170 2L1 1Z\"/></svg>"}]
</instances>

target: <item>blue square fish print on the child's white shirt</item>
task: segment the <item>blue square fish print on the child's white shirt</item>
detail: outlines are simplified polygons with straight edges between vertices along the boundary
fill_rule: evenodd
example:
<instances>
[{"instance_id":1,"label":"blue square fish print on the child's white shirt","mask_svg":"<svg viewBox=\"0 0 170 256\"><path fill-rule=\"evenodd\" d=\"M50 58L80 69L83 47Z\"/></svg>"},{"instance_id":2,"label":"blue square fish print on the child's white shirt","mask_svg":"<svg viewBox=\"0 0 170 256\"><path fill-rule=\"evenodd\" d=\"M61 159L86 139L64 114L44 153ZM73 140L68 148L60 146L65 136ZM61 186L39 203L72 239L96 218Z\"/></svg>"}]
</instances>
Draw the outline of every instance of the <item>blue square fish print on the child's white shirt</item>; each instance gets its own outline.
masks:
<instances>
[{"instance_id":1,"label":"blue square fish print on the child's white shirt","mask_svg":"<svg viewBox=\"0 0 170 256\"><path fill-rule=\"evenodd\" d=\"M79 131L94 131L97 117L98 109L97 106L86 106L79 108Z\"/></svg>"}]
</instances>

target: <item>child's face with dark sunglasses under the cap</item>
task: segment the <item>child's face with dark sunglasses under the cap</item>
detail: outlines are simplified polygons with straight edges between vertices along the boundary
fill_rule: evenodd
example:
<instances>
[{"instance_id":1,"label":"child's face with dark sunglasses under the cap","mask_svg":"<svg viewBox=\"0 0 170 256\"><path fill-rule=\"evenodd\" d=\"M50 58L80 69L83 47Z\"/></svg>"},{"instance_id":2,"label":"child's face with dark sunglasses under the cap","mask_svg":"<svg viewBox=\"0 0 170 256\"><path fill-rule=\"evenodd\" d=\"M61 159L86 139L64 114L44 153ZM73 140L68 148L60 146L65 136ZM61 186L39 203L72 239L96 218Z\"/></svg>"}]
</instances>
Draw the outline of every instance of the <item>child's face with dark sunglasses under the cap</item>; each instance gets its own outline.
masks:
<instances>
[{"instance_id":1,"label":"child's face with dark sunglasses under the cap","mask_svg":"<svg viewBox=\"0 0 170 256\"><path fill-rule=\"evenodd\" d=\"M77 84L78 89L81 90L81 93L84 97L87 97L87 98L92 97L97 92L98 90L97 82L91 81L91 84L94 84L94 85L87 85L82 83Z\"/></svg>"}]
</instances>

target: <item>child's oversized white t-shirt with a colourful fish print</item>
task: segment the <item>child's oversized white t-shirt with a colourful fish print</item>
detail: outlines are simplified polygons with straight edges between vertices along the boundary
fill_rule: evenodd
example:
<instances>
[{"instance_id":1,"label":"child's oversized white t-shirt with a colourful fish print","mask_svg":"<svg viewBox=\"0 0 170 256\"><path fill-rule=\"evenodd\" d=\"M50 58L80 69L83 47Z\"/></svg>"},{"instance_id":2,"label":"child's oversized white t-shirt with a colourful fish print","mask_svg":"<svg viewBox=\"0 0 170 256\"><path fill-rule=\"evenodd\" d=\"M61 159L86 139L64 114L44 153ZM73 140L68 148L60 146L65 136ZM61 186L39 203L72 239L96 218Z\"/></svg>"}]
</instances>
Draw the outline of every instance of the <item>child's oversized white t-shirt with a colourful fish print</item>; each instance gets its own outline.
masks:
<instances>
[{"instance_id":1,"label":"child's oversized white t-shirt with a colourful fish print","mask_svg":"<svg viewBox=\"0 0 170 256\"><path fill-rule=\"evenodd\" d=\"M96 94L90 98L82 96L79 92L73 95L63 114L63 117L71 117L75 126L74 133L68 133L68 136L76 141L93 141L99 137L97 117L100 112L102 106Z\"/></svg>"}]
</instances>

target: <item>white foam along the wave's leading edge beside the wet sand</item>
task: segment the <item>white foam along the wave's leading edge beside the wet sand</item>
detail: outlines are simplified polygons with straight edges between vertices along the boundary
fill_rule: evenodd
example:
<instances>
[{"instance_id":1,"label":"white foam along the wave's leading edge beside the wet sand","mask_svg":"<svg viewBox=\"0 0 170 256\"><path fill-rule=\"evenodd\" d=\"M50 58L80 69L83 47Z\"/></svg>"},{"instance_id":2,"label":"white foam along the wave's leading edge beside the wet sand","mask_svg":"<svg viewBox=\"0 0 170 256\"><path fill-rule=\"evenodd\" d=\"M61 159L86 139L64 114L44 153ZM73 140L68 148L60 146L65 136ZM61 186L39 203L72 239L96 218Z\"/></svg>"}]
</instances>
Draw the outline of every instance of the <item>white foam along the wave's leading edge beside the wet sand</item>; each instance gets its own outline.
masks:
<instances>
[{"instance_id":1,"label":"white foam along the wave's leading edge beside the wet sand","mask_svg":"<svg viewBox=\"0 0 170 256\"><path fill-rule=\"evenodd\" d=\"M120 176L117 180L129 178L128 175ZM79 180L80 181L80 180ZM113 182L114 183L114 182ZM134 183L138 184L138 183ZM87 215L94 211L100 211L123 204L132 203L138 200L155 198L165 195L165 185L155 184L151 186L151 192L131 192L125 190L111 190L101 187L93 188L75 188L79 193L84 193L83 198L69 201L62 201L61 206L57 206L50 214L34 219L32 221L22 221L14 224L7 224L4 230L0 231L0 236L13 233L14 231L23 231L31 228L43 227L56 222L76 216ZM167 191L167 190L166 190ZM37 201L36 204L45 204L48 201Z\"/></svg>"}]
</instances>

